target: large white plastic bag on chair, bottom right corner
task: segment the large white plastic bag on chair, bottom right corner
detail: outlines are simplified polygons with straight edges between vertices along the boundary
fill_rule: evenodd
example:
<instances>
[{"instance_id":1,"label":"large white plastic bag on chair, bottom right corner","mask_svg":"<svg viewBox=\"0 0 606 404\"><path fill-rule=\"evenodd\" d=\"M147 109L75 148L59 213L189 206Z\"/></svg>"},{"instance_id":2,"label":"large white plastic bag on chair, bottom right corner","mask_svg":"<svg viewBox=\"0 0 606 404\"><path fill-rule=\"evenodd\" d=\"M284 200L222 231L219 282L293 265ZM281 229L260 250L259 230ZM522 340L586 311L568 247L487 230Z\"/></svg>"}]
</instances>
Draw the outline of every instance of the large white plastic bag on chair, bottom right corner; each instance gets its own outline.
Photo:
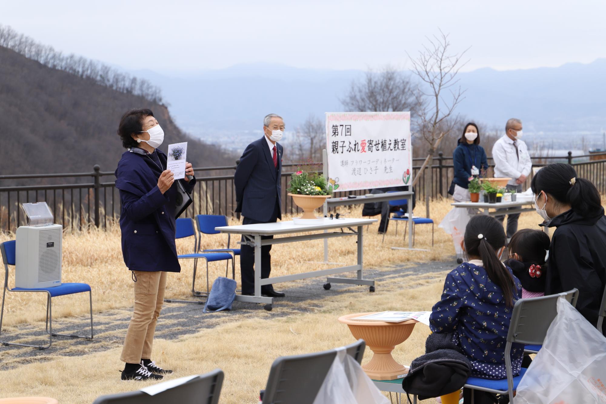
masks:
<instances>
[{"instance_id":1,"label":"large white plastic bag on chair, bottom right corner","mask_svg":"<svg viewBox=\"0 0 606 404\"><path fill-rule=\"evenodd\" d=\"M606 403L606 337L563 297L514 404Z\"/></svg>"}]
</instances>

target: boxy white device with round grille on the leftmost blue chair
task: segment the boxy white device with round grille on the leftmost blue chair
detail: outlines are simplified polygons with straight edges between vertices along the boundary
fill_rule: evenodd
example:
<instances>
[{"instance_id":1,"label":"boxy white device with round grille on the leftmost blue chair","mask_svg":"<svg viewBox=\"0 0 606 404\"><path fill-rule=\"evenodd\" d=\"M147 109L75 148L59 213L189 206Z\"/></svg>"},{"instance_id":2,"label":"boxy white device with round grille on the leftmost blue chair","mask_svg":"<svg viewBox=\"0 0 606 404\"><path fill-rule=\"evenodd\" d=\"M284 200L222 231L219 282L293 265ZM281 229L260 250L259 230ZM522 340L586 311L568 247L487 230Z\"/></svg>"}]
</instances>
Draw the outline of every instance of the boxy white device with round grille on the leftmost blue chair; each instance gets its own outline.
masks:
<instances>
[{"instance_id":1,"label":"boxy white device with round grille on the leftmost blue chair","mask_svg":"<svg viewBox=\"0 0 606 404\"><path fill-rule=\"evenodd\" d=\"M46 203L23 206L29 225L19 226L16 232L15 286L26 289L59 286L63 226L52 224L53 216Z\"/></svg>"}]
</instances>

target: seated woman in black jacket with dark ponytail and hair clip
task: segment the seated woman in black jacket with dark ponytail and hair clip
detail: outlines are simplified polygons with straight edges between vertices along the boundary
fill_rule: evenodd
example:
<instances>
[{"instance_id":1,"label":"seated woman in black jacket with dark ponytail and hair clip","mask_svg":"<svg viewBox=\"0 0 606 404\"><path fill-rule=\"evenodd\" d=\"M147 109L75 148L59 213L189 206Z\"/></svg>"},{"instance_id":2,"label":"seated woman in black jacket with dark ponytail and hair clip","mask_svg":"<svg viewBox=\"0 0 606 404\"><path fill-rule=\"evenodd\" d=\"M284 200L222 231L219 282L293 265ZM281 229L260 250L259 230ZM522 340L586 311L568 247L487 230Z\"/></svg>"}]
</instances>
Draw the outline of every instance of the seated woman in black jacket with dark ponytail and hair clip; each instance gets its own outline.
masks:
<instances>
[{"instance_id":1,"label":"seated woman in black jacket with dark ponytail and hair clip","mask_svg":"<svg viewBox=\"0 0 606 404\"><path fill-rule=\"evenodd\" d=\"M531 183L541 226L557 227L549 247L545 295L579 289L576 308L596 326L606 285L606 217L596 187L568 164L550 164ZM606 323L602 326L606 331Z\"/></svg>"}]
</instances>

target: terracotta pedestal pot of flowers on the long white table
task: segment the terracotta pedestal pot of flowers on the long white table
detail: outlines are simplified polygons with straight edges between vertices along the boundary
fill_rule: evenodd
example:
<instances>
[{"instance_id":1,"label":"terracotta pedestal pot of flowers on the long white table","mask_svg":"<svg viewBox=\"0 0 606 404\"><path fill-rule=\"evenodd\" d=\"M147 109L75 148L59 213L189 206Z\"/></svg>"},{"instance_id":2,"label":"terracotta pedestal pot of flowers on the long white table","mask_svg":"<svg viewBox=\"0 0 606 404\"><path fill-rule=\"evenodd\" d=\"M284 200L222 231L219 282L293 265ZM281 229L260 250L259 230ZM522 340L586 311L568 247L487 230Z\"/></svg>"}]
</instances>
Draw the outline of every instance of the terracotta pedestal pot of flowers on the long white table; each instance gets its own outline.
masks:
<instances>
[{"instance_id":1,"label":"terracotta pedestal pot of flowers on the long white table","mask_svg":"<svg viewBox=\"0 0 606 404\"><path fill-rule=\"evenodd\" d=\"M293 198L296 206L303 209L300 218L293 218L295 224L310 224L311 221L322 220L317 218L314 210L324 204L333 193L333 187L328 184L326 178L317 172L305 172L298 170L290 177L288 196Z\"/></svg>"}]
</instances>

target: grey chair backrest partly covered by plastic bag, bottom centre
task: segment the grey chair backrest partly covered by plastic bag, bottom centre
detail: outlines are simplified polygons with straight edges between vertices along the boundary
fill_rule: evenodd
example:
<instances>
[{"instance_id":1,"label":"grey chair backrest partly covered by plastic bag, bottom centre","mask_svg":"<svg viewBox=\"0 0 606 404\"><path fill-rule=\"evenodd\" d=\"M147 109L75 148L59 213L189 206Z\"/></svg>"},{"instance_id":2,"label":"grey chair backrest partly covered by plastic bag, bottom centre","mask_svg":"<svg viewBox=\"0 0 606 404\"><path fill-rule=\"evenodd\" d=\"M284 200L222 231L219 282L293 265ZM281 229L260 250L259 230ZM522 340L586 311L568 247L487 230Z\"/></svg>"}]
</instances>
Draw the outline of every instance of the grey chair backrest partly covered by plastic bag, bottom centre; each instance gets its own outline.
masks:
<instances>
[{"instance_id":1,"label":"grey chair backrest partly covered by plastic bag, bottom centre","mask_svg":"<svg viewBox=\"0 0 606 404\"><path fill-rule=\"evenodd\" d=\"M347 354L361 362L364 340L344 346ZM337 351L279 357L271 365L263 404L313 404Z\"/></svg>"}]
</instances>

